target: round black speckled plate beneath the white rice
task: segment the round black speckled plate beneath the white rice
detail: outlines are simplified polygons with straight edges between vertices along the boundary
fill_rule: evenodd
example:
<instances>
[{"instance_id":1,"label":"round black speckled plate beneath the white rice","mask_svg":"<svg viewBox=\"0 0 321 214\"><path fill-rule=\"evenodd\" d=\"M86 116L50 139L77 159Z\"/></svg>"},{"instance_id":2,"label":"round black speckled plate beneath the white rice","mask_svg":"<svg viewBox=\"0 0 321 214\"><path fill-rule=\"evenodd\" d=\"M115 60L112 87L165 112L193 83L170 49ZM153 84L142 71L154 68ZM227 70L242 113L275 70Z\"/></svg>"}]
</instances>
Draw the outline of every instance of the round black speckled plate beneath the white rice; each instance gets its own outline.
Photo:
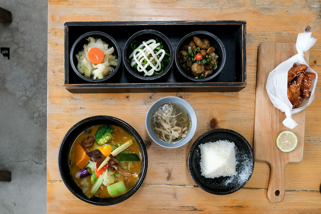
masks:
<instances>
[{"instance_id":1,"label":"round black speckled plate beneath the white rice","mask_svg":"<svg viewBox=\"0 0 321 214\"><path fill-rule=\"evenodd\" d=\"M201 143L228 140L235 143L237 175L205 178L201 175ZM192 145L188 155L188 170L194 182L208 193L226 195L242 188L250 179L254 169L254 156L250 144L239 133L230 129L214 129L201 135Z\"/></svg>"}]
</instances>

